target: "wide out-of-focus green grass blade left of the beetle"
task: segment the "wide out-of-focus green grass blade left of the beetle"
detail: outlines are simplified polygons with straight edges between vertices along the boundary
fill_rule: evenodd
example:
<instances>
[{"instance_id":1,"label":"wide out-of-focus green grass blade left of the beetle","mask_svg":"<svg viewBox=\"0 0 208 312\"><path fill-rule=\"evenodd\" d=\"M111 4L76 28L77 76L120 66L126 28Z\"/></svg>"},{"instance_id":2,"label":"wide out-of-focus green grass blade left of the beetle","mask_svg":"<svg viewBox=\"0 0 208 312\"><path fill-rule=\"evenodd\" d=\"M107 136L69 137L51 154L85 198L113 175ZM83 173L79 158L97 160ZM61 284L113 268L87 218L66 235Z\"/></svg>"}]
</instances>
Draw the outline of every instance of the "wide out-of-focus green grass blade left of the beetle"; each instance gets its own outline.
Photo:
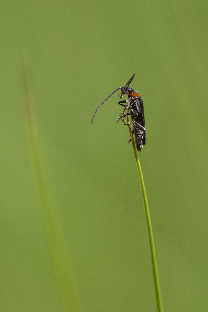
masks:
<instances>
[{"instance_id":1,"label":"wide out-of-focus green grass blade left of the beetle","mask_svg":"<svg viewBox=\"0 0 208 312\"><path fill-rule=\"evenodd\" d=\"M41 215L51 249L51 256L60 287L60 293L67 312L83 311L75 279L70 266L68 249L56 207L41 142L39 122L32 88L29 62L21 60L22 95L27 142L35 185L39 197Z\"/></svg>"}]
</instances>

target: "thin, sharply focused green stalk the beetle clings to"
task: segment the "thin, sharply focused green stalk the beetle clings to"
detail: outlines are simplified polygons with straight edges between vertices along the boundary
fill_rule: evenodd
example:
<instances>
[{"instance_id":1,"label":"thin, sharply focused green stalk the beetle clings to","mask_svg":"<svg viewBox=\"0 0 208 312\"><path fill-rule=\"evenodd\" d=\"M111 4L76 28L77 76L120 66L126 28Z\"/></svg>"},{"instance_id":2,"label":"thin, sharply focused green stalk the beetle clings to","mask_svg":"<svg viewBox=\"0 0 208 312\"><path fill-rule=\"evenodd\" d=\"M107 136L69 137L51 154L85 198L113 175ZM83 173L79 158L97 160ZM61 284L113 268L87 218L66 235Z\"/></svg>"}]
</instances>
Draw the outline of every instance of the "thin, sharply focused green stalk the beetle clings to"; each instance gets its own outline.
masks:
<instances>
[{"instance_id":1,"label":"thin, sharply focused green stalk the beetle clings to","mask_svg":"<svg viewBox=\"0 0 208 312\"><path fill-rule=\"evenodd\" d=\"M126 112L128 113L128 108L126 109ZM127 122L128 122L128 115L127 115ZM157 310L158 310L158 312L163 312L162 295L161 295L161 290L160 290L159 274L158 274L158 269L157 269L156 252L155 252L155 246L154 246L151 219L150 219L150 214L149 214L147 194L146 194L146 190L145 190L145 186L144 186L142 168L141 168L139 158L137 155L136 144L135 144L135 141L133 138L133 134L132 134L132 130L131 130L130 125L128 125L128 129L129 129L129 133L130 133L130 137L131 137L134 156L135 156L136 163L137 163L139 180L140 180L140 185L141 185L141 190L142 190L144 211L145 211L145 217L146 217L146 222L147 222L147 232L148 232L149 245L150 245L150 254L151 254L151 260L152 260L152 270L153 270L155 294L156 294L156 300L157 300Z\"/></svg>"}]
</instances>

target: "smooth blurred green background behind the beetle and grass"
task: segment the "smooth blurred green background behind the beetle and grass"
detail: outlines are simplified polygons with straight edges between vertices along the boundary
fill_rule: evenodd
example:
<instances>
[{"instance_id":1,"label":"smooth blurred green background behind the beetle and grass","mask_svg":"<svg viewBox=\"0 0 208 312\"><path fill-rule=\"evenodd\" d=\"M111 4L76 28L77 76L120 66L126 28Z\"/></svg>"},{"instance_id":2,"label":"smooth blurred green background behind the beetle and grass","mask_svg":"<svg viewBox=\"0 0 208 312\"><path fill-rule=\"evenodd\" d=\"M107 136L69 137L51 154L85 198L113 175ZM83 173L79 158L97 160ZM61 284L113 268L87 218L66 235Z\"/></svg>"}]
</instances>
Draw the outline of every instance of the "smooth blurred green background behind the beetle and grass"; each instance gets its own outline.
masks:
<instances>
[{"instance_id":1,"label":"smooth blurred green background behind the beetle and grass","mask_svg":"<svg viewBox=\"0 0 208 312\"><path fill-rule=\"evenodd\" d=\"M164 310L208 309L207 1L2 1L0 302L63 311L34 188L18 56L85 311L156 311L143 202L116 95L143 98L140 156Z\"/></svg>"}]
</instances>

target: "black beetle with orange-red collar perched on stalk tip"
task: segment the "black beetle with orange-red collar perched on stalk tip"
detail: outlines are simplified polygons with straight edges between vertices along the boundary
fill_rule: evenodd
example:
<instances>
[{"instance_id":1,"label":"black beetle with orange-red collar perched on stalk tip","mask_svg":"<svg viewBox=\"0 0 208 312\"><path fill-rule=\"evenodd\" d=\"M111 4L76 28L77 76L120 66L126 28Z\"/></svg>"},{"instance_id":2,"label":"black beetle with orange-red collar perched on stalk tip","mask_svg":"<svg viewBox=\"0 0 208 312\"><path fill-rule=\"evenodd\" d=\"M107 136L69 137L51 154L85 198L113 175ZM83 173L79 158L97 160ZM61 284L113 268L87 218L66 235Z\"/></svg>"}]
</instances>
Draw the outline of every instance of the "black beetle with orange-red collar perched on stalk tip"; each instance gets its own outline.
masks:
<instances>
[{"instance_id":1,"label":"black beetle with orange-red collar perched on stalk tip","mask_svg":"<svg viewBox=\"0 0 208 312\"><path fill-rule=\"evenodd\" d=\"M125 85L125 87L117 88L98 106L98 108L94 112L91 123L93 123L94 116L99 110L99 108L109 99L109 97L111 97L111 95L113 95L118 90L121 90L121 93L119 94L120 99L123 98L124 95L128 95L128 100L121 100L118 102L119 105L124 106L125 109L123 110L123 113L119 115L117 122L121 119L124 125L133 124L132 133L134 134L134 137L135 137L136 147L138 151L141 152L143 145L146 144L147 137L146 137L145 120L144 120L143 100L137 91L133 90L132 88L129 88L129 85L132 82L134 76L135 74L131 76L131 78L128 80L127 84ZM124 103L126 104L124 105ZM125 117L127 115L131 116L132 121L125 123ZM130 141L131 140L129 140L128 142Z\"/></svg>"}]
</instances>

